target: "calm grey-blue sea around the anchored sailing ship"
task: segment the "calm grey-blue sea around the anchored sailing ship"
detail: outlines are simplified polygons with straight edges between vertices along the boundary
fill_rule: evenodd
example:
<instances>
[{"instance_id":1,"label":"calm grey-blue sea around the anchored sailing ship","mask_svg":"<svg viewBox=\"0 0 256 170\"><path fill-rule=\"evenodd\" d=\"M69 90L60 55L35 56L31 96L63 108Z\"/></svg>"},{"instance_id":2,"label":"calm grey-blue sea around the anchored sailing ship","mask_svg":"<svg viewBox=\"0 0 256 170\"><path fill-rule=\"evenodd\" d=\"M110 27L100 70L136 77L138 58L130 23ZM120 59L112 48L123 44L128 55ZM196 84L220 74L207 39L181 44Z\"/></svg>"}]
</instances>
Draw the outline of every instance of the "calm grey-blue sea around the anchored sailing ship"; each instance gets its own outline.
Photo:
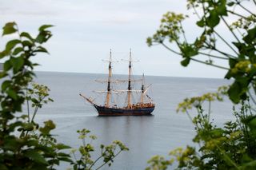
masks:
<instances>
[{"instance_id":1,"label":"calm grey-blue sea around the anchored sailing ship","mask_svg":"<svg viewBox=\"0 0 256 170\"><path fill-rule=\"evenodd\" d=\"M230 81L222 79L148 76L146 83L152 84L149 95L156 104L153 116L98 117L96 110L79 93L95 96L91 90L104 89L105 85L94 80L104 79L106 75L38 72L37 76L35 81L49 86L54 102L38 111L36 121L53 120L57 125L53 133L58 135L58 142L74 148L82 144L76 131L90 129L92 134L98 136L93 142L96 149L94 158L99 154L100 144L121 140L130 151L122 152L110 168L107 165L103 168L118 170L144 169L148 165L147 160L154 155L168 156L174 148L194 145L194 126L185 113L176 113L178 103L186 97L215 92L219 86L230 84ZM211 108L211 118L217 125L222 126L223 122L233 119L230 112L232 104L228 99L214 102ZM190 113L194 115L194 111ZM62 164L58 169L68 167L68 164Z\"/></svg>"}]
</instances>

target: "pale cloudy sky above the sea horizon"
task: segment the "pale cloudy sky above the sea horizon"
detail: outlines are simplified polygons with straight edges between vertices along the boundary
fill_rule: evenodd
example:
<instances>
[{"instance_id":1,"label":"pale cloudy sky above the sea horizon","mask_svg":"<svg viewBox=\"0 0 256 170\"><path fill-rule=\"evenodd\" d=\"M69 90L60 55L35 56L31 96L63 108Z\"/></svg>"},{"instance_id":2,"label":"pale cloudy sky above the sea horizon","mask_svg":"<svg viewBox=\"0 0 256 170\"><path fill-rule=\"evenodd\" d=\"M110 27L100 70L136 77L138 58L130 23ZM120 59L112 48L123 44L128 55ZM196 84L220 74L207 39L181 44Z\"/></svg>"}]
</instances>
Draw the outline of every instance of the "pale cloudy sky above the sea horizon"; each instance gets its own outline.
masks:
<instances>
[{"instance_id":1,"label":"pale cloudy sky above the sea horizon","mask_svg":"<svg viewBox=\"0 0 256 170\"><path fill-rule=\"evenodd\" d=\"M39 26L54 25L53 37L47 42L50 55L41 54L34 61L38 71L107 73L112 49L114 73L128 73L132 49L134 74L167 77L224 77L226 71L192 62L180 65L182 58L161 45L148 47L167 11L189 14L185 0L0 0L0 26L17 22L19 30L37 34ZM186 22L190 39L199 34L194 17ZM0 38L0 48L4 41ZM192 39L192 38L191 38Z\"/></svg>"}]
</instances>

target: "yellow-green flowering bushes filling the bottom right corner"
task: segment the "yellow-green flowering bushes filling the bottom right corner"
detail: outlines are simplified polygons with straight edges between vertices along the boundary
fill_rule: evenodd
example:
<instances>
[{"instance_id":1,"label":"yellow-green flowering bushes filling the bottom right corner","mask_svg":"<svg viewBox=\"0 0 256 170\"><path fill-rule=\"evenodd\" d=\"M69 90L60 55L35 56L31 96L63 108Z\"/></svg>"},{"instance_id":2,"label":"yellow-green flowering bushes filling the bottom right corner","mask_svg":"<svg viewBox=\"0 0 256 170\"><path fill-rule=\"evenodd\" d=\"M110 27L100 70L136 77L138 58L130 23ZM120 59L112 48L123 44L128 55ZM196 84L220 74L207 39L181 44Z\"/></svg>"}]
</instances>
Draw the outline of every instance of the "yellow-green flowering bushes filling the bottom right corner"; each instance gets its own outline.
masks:
<instances>
[{"instance_id":1,"label":"yellow-green flowering bushes filling the bottom right corner","mask_svg":"<svg viewBox=\"0 0 256 170\"><path fill-rule=\"evenodd\" d=\"M217 93L216 93L217 94ZM216 95L215 94L215 95ZM214 93L213 93L214 95ZM214 96L215 96L214 95ZM200 98L200 99L199 99ZM202 101L202 97L198 97ZM208 99L204 101L210 102ZM242 102L239 111L234 109L236 121L227 121L219 128L210 121L210 111L205 113L202 103L194 98L186 99L180 104L185 105L182 111L193 109L198 115L191 121L196 130L194 143L199 148L187 146L170 152L170 159L154 156L149 160L150 167L146 169L166 169L168 165L178 162L177 169L254 169L256 168L256 114L250 108L250 102Z\"/></svg>"}]
</instances>

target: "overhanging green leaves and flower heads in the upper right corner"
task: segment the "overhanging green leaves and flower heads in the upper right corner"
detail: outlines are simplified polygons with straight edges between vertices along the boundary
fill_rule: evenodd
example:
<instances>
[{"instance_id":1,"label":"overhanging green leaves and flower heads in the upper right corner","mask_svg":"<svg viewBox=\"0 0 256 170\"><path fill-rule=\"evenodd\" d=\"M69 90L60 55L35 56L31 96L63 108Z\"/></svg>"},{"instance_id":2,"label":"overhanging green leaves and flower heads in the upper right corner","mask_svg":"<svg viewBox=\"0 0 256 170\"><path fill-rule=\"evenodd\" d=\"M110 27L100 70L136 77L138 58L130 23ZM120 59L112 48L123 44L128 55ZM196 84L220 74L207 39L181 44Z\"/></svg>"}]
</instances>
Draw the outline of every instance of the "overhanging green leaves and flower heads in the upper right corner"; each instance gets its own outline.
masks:
<instances>
[{"instance_id":1,"label":"overhanging green leaves and flower heads in the upper right corner","mask_svg":"<svg viewBox=\"0 0 256 170\"><path fill-rule=\"evenodd\" d=\"M255 8L256 2L250 1L250 6ZM228 92L230 100L234 103L245 100L248 90L255 90L256 86L256 14L243 6L240 0L187 0L187 7L197 15L196 24L198 30L202 30L202 34L198 35L194 42L188 42L186 39L182 26L186 16L167 12L163 15L159 30L147 39L147 44L161 44L182 56L183 66L189 65L190 61L197 61L226 69L226 79L234 79ZM240 9L237 10L238 8ZM232 18L230 21L234 18L237 20L229 23L228 18ZM220 24L226 26L226 32L233 35L234 41L229 42L218 33ZM223 50L220 47L222 44L225 44L227 49ZM179 50L176 50L177 47ZM207 59L203 60L203 56ZM230 67L219 65L220 60L229 62Z\"/></svg>"}]
</instances>

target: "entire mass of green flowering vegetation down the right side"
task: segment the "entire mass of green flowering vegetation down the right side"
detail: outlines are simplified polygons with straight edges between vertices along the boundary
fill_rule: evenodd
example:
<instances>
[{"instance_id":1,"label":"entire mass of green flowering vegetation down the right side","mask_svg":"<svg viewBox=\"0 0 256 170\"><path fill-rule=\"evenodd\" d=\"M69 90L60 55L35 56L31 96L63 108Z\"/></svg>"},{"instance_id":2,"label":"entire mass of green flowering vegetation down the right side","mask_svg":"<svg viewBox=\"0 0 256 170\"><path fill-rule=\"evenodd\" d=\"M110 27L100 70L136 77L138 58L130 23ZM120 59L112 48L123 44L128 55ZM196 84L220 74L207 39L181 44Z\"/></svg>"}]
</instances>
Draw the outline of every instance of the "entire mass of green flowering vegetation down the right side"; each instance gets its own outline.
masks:
<instances>
[{"instance_id":1,"label":"entire mass of green flowering vegetation down the right side","mask_svg":"<svg viewBox=\"0 0 256 170\"><path fill-rule=\"evenodd\" d=\"M202 97L186 99L178 105L190 117L189 110L198 115L190 117L198 147L187 146L170 152L170 159L154 156L147 169L166 169L178 162L177 169L254 169L256 168L256 1L187 0L193 10L201 34L190 42L183 22L188 16L168 12L148 45L163 45L182 57L181 65L190 61L226 70L226 79L233 83ZM225 28L226 30L223 30ZM225 34L225 35L224 35ZM231 38L226 39L230 35ZM222 65L222 61L228 62ZM233 109L236 121L217 127L210 121L210 103L230 97L240 109ZM203 103L209 108L204 109ZM229 114L229 113L226 113ZM174 165L173 167L174 168Z\"/></svg>"}]
</instances>

